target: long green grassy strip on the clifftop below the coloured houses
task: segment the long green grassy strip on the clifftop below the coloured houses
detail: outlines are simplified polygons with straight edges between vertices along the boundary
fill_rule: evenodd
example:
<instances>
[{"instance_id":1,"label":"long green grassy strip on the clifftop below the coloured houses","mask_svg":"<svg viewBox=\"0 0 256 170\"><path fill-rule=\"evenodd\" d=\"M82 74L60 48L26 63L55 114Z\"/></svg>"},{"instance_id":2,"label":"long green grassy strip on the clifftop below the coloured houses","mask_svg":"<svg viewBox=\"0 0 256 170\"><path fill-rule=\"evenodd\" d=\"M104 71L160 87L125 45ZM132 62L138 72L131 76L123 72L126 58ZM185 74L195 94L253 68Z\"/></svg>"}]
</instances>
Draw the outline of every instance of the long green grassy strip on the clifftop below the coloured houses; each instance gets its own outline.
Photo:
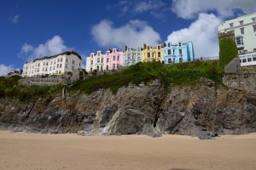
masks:
<instances>
[{"instance_id":1,"label":"long green grassy strip on the clifftop below the coloured houses","mask_svg":"<svg viewBox=\"0 0 256 170\"><path fill-rule=\"evenodd\" d=\"M73 85L72 90L90 94L100 88L110 88L115 94L119 88L128 86L129 83L138 85L140 82L147 83L160 79L162 85L168 88L171 84L193 84L201 77L209 78L218 85L223 77L223 69L218 66L218 61L195 61L173 65L163 65L160 62L137 63L120 73L80 80Z\"/></svg>"}]
</instances>

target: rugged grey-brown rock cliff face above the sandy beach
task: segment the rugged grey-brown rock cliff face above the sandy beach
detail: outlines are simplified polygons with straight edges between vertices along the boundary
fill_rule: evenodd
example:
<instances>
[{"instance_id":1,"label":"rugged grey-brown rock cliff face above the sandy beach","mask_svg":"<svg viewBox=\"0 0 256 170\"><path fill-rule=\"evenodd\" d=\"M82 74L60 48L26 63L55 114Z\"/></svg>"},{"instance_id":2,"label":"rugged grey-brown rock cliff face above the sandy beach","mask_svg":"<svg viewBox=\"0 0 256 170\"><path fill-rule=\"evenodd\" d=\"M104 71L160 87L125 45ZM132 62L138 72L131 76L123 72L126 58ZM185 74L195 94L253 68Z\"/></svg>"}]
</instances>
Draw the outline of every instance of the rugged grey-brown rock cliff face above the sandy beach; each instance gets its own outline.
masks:
<instances>
[{"instance_id":1,"label":"rugged grey-brown rock cliff face above the sandy beach","mask_svg":"<svg viewBox=\"0 0 256 170\"><path fill-rule=\"evenodd\" d=\"M236 80L224 77L230 84ZM0 122L15 131L81 135L176 133L204 139L216 133L251 133L256 132L256 94L251 89L256 82L249 81L254 82L246 88L216 88L214 82L201 78L193 87L166 91L156 80L120 88L117 94L98 90L32 104L0 99Z\"/></svg>"}]
</instances>

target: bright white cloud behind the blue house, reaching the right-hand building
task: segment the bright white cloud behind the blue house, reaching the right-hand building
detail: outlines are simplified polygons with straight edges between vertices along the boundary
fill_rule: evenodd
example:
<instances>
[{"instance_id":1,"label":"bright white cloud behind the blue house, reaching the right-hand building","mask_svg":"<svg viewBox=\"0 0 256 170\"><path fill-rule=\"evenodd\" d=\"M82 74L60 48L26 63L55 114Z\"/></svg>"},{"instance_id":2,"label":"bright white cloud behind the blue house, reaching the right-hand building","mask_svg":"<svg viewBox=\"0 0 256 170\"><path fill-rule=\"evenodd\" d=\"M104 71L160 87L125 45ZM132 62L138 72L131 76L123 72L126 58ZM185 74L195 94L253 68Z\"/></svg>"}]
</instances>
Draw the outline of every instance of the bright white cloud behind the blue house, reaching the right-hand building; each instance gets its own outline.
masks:
<instances>
[{"instance_id":1,"label":"bright white cloud behind the blue house, reaching the right-hand building","mask_svg":"<svg viewBox=\"0 0 256 170\"><path fill-rule=\"evenodd\" d=\"M192 41L195 57L218 56L218 25L221 20L214 14L199 14L198 20L188 28L173 31L168 37L170 42Z\"/></svg>"}]
</instances>

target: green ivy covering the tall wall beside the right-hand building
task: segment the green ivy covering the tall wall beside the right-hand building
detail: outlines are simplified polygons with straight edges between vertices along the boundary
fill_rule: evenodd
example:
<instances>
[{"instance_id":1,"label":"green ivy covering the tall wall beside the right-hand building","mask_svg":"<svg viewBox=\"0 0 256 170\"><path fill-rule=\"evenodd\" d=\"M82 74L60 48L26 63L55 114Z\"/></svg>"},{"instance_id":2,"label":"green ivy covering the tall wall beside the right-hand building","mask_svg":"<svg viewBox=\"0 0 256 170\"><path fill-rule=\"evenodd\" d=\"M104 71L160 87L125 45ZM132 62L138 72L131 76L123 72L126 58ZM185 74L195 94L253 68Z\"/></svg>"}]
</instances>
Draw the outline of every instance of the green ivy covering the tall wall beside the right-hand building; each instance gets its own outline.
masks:
<instances>
[{"instance_id":1,"label":"green ivy covering the tall wall beside the right-hand building","mask_svg":"<svg viewBox=\"0 0 256 170\"><path fill-rule=\"evenodd\" d=\"M236 42L231 38L222 38L219 40L219 65L221 67L224 68L237 54Z\"/></svg>"}]
</instances>

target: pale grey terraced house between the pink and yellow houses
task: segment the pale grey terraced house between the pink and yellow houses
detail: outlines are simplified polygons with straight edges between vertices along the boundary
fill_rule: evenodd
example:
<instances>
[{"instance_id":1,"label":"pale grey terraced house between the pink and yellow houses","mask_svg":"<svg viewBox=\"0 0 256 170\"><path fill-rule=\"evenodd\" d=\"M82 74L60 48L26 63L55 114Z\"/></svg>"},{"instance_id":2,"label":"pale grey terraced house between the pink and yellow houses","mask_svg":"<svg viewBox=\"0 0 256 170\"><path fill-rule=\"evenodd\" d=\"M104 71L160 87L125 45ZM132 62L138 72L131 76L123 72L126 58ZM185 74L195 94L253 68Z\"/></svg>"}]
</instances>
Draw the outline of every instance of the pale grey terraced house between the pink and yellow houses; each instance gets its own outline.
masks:
<instances>
[{"instance_id":1,"label":"pale grey terraced house between the pink and yellow houses","mask_svg":"<svg viewBox=\"0 0 256 170\"><path fill-rule=\"evenodd\" d=\"M142 61L142 48L131 48L125 46L124 63L125 66L135 65L137 62Z\"/></svg>"}]
</instances>

